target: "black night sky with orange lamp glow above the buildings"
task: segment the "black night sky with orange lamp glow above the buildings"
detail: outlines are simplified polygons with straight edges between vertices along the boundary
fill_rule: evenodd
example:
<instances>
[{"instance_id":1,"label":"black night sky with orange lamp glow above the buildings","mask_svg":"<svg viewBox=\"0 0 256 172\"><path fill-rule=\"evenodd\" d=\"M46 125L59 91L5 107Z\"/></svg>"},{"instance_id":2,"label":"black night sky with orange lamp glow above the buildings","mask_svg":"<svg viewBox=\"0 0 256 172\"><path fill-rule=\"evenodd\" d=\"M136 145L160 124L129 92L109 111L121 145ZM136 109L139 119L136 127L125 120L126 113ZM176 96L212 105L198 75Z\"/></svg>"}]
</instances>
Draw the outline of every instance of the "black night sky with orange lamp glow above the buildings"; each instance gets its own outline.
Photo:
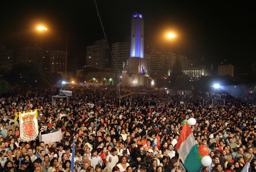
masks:
<instances>
[{"instance_id":1,"label":"black night sky with orange lamp glow above the buildings","mask_svg":"<svg viewBox=\"0 0 256 172\"><path fill-rule=\"evenodd\" d=\"M214 64L227 60L241 69L255 60L256 1L96 2L110 45L130 36L130 20L138 12L145 22L145 45L171 47L189 58L203 55L205 61ZM93 0L5 0L0 14L0 44L7 49L40 45L43 39L44 47L65 51L68 33L70 56L82 59L86 46L104 39ZM41 23L47 32L36 30ZM168 31L175 33L174 40L166 39Z\"/></svg>"}]
</instances>

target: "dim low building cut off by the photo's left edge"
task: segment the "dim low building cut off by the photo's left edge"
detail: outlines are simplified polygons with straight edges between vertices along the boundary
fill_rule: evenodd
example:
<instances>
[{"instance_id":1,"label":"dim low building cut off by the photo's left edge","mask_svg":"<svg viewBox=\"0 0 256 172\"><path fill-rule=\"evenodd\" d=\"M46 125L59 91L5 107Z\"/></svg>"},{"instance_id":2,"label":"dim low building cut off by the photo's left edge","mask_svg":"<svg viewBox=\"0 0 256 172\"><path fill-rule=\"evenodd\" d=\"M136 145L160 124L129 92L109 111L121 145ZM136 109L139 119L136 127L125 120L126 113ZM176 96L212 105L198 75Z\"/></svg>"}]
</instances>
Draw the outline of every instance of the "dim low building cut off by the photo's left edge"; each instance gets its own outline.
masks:
<instances>
[{"instance_id":1,"label":"dim low building cut off by the photo's left edge","mask_svg":"<svg viewBox=\"0 0 256 172\"><path fill-rule=\"evenodd\" d=\"M13 66L13 51L6 50L6 47L0 46L0 67L11 70Z\"/></svg>"}]
</instances>

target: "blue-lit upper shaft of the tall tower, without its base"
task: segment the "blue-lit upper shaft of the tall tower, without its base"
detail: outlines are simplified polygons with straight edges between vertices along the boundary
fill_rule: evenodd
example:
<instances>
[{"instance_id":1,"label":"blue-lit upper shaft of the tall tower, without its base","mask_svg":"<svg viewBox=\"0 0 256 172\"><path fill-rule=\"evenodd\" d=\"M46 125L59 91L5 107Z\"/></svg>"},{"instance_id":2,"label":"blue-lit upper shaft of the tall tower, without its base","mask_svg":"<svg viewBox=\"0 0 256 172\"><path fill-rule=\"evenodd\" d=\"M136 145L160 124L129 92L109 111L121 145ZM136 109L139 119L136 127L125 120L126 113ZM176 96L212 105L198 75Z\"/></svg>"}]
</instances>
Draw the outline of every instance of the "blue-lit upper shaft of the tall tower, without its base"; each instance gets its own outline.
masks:
<instances>
[{"instance_id":1,"label":"blue-lit upper shaft of the tall tower, without its base","mask_svg":"<svg viewBox=\"0 0 256 172\"><path fill-rule=\"evenodd\" d=\"M144 57L144 20L135 13L131 19L131 54L130 57Z\"/></svg>"}]
</instances>

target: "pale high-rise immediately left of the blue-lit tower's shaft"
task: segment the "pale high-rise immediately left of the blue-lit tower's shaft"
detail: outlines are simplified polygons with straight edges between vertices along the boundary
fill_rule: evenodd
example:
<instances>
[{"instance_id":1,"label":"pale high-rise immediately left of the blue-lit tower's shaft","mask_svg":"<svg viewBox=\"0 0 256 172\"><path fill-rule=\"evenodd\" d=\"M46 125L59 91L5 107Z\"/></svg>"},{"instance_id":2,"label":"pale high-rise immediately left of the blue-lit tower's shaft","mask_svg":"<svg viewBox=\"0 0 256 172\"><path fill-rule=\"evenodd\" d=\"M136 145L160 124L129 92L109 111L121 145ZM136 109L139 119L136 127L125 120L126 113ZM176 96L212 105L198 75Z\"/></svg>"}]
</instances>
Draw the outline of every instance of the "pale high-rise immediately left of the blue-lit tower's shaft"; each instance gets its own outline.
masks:
<instances>
[{"instance_id":1,"label":"pale high-rise immediately left of the blue-lit tower's shaft","mask_svg":"<svg viewBox=\"0 0 256 172\"><path fill-rule=\"evenodd\" d=\"M127 60L130 57L131 43L126 42L116 42L112 43L112 57L111 69L115 71L123 70L123 64L127 65Z\"/></svg>"}]
</instances>

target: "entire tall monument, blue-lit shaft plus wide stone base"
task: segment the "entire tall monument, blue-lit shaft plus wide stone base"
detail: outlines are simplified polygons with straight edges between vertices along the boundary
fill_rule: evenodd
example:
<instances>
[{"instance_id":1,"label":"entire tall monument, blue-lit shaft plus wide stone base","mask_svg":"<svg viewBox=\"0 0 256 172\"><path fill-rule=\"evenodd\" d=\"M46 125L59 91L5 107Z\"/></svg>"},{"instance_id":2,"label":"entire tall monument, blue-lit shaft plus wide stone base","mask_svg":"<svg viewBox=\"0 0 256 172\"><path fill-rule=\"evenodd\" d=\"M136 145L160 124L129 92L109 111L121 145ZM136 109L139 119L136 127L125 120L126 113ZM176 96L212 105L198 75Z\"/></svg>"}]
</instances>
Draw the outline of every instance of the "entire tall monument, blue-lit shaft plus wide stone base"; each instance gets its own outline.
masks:
<instances>
[{"instance_id":1,"label":"entire tall monument, blue-lit shaft plus wide stone base","mask_svg":"<svg viewBox=\"0 0 256 172\"><path fill-rule=\"evenodd\" d=\"M131 19L131 52L127 62L123 62L121 86L150 87L148 56L144 58L144 20L139 13Z\"/></svg>"}]
</instances>

